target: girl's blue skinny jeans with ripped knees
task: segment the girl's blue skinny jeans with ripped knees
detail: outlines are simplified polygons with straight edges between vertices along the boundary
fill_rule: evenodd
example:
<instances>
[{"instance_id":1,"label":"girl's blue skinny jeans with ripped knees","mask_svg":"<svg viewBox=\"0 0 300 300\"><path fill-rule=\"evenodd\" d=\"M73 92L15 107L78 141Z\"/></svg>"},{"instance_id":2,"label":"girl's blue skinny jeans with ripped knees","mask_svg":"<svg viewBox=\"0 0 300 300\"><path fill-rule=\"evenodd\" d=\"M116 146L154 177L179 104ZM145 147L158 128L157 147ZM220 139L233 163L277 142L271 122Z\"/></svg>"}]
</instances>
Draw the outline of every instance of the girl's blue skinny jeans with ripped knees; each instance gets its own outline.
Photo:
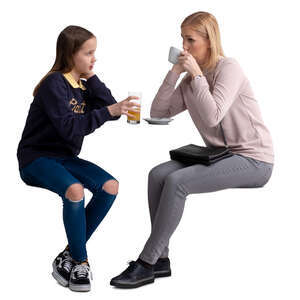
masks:
<instances>
[{"instance_id":1,"label":"girl's blue skinny jeans with ripped knees","mask_svg":"<svg viewBox=\"0 0 300 300\"><path fill-rule=\"evenodd\" d=\"M27 185L48 189L62 198L70 255L78 262L86 260L86 242L116 198L103 190L103 184L116 179L97 165L78 157L39 157L20 169L20 176ZM84 197L80 201L65 197L67 189L74 183L80 183L93 194L86 208Z\"/></svg>"}]
</instances>

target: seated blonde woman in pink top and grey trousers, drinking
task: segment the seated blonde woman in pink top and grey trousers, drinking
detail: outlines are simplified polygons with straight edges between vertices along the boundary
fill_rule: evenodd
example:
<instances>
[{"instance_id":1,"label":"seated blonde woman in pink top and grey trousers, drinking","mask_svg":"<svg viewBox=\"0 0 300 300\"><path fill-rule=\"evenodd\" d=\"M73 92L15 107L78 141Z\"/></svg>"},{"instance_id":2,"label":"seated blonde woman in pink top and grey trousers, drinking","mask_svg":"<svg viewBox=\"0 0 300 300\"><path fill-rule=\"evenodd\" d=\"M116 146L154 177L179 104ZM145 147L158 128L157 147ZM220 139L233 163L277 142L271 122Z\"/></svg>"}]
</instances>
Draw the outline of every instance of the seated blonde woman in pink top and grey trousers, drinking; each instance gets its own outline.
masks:
<instances>
[{"instance_id":1,"label":"seated blonde woman in pink top and grey trousers, drinking","mask_svg":"<svg viewBox=\"0 0 300 300\"><path fill-rule=\"evenodd\" d=\"M213 165L168 161L148 178L152 230L136 261L111 285L134 288L170 276L169 240L183 214L187 195L227 188L263 187L270 179L274 153L258 102L234 58L225 57L217 21L207 12L181 24L183 49L152 103L152 117L188 110L206 146L224 146L220 122L233 156ZM179 75L187 72L177 88Z\"/></svg>"}]
</instances>

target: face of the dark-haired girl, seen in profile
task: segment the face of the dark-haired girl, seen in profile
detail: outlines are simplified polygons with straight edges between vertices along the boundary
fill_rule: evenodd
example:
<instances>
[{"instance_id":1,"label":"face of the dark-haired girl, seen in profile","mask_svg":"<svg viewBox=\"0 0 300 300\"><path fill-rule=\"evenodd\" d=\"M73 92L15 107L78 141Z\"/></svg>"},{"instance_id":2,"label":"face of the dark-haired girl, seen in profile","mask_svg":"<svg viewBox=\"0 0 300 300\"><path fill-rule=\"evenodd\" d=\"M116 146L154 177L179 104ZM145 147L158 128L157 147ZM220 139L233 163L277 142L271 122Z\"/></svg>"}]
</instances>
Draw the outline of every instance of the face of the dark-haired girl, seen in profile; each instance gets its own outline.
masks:
<instances>
[{"instance_id":1,"label":"face of the dark-haired girl, seen in profile","mask_svg":"<svg viewBox=\"0 0 300 300\"><path fill-rule=\"evenodd\" d=\"M97 40L95 37L85 41L80 49L74 54L74 68L73 70L78 73L89 73L93 69L96 61L95 51L97 48Z\"/></svg>"}]
</instances>

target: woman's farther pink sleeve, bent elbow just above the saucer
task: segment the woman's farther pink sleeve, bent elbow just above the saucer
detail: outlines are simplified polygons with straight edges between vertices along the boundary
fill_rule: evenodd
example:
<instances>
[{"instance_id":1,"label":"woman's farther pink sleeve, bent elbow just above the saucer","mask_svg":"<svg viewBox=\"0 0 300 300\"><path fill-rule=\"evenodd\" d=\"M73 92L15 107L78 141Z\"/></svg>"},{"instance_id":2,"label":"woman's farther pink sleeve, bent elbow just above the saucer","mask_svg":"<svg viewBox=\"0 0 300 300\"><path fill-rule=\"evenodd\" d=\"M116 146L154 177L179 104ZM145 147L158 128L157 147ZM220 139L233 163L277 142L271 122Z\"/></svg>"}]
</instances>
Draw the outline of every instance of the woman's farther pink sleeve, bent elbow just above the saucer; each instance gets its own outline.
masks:
<instances>
[{"instance_id":1,"label":"woman's farther pink sleeve, bent elbow just above the saucer","mask_svg":"<svg viewBox=\"0 0 300 300\"><path fill-rule=\"evenodd\" d=\"M160 86L151 105L150 116L153 118L172 117L186 110L180 86L175 89L179 74L169 71Z\"/></svg>"}]
</instances>

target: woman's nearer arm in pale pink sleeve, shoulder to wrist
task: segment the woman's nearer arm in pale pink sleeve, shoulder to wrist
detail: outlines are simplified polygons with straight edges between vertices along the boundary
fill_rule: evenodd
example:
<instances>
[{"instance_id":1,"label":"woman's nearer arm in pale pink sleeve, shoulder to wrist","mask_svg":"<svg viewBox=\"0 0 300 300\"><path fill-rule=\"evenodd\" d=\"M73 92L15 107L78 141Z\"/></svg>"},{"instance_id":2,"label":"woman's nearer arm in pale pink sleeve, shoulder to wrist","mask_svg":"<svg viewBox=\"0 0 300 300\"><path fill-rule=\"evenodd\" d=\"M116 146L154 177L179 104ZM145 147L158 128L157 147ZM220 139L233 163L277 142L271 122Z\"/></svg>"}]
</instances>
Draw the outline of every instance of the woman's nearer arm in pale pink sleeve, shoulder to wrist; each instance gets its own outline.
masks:
<instances>
[{"instance_id":1,"label":"woman's nearer arm in pale pink sleeve, shoulder to wrist","mask_svg":"<svg viewBox=\"0 0 300 300\"><path fill-rule=\"evenodd\" d=\"M204 76L191 81L195 107L208 127L217 126L223 119L244 81L243 71L235 60L224 63L212 93Z\"/></svg>"}]
</instances>

